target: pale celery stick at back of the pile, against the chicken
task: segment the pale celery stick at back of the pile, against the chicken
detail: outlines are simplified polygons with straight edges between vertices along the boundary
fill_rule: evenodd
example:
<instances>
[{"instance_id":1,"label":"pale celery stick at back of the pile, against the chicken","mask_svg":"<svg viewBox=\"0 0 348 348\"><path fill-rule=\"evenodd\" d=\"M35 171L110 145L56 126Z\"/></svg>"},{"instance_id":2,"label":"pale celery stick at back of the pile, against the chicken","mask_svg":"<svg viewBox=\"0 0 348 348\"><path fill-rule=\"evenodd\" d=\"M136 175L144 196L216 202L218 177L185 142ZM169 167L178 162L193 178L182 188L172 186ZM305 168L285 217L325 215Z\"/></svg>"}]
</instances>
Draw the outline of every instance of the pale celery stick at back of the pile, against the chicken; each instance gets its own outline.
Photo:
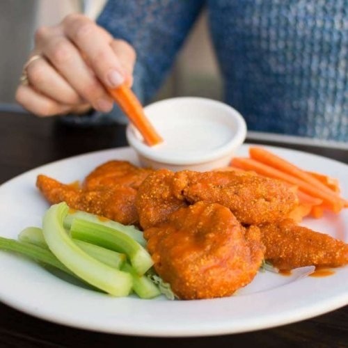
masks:
<instances>
[{"instance_id":1,"label":"pale celery stick at back of the pile, against the chicken","mask_svg":"<svg viewBox=\"0 0 348 348\"><path fill-rule=\"evenodd\" d=\"M101 219L99 216L96 216L94 214L81 212L81 210L70 209L67 216L65 216L64 218L64 227L67 230L70 230L72 221L74 219L81 219L85 221L99 223L100 225L103 225L103 226L111 227L115 230L125 233L126 235L129 235L129 237L132 237L133 239L135 239L136 242L138 242L142 246L146 245L146 241L143 237L143 232L141 232L141 230L138 230L134 226L125 226L125 225L122 225L122 223L118 223L116 221Z\"/></svg>"}]
</instances>

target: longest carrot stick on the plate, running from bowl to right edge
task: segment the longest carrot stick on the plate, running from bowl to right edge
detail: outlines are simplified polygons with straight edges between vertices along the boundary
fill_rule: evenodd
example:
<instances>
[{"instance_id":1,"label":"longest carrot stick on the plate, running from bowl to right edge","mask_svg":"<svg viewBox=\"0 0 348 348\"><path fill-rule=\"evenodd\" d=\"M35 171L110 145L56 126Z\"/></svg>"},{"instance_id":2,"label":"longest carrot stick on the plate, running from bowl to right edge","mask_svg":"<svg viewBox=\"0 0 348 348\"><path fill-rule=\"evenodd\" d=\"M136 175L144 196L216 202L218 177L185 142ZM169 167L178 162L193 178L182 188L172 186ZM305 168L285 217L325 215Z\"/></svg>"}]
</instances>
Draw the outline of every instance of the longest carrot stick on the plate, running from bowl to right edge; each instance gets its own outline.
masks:
<instances>
[{"instance_id":1,"label":"longest carrot stick on the plate, running from bowl to right edge","mask_svg":"<svg viewBox=\"0 0 348 348\"><path fill-rule=\"evenodd\" d=\"M255 159L234 157L231 163L232 166L237 166L238 168L242 168L246 171L255 171L256 173L267 177L274 177L278 180L290 182L290 184L298 186L301 191L308 193L310 196L322 198L323 203L326 203L329 209L335 213L340 212L342 207L345 205L345 200L342 200L342 198L332 191L328 193L322 189L318 189L317 187L308 184L308 182L300 180L298 177L294 177L284 173L283 171L279 171L276 168L267 166L266 164L256 161Z\"/></svg>"}]
</instances>

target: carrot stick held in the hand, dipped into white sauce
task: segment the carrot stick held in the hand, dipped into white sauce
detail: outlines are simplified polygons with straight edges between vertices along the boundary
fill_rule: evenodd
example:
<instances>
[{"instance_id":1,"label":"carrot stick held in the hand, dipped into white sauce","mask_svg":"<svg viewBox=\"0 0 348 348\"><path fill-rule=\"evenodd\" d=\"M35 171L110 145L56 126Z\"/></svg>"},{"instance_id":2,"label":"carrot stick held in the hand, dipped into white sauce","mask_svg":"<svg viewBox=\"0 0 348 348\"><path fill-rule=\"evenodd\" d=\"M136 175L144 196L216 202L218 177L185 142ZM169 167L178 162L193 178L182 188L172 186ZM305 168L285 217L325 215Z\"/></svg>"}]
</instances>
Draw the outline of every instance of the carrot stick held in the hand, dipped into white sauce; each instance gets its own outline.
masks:
<instances>
[{"instance_id":1,"label":"carrot stick held in the hand, dipped into white sauce","mask_svg":"<svg viewBox=\"0 0 348 348\"><path fill-rule=\"evenodd\" d=\"M152 146L163 141L148 118L146 118L143 106L141 106L138 98L126 84L122 84L118 88L109 89L109 93L133 123L134 127L139 130L145 143Z\"/></svg>"}]
</instances>

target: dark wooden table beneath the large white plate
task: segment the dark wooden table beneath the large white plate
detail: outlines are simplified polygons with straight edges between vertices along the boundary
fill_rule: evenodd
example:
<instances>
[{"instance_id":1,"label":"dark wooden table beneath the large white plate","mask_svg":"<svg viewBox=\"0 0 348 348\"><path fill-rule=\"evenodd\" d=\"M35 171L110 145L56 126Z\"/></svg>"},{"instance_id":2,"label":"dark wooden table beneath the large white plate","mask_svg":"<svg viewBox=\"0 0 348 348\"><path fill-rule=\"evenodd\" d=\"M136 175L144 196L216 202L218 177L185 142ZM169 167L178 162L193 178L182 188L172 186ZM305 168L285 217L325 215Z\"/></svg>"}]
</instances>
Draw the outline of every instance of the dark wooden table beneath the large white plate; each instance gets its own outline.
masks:
<instances>
[{"instance_id":1,"label":"dark wooden table beneath the large white plate","mask_svg":"<svg viewBox=\"0 0 348 348\"><path fill-rule=\"evenodd\" d=\"M251 139L295 148L348 163L348 149ZM126 145L125 127L68 127L57 118L39 119L0 111L0 184L10 178L84 152ZM1 280L0 280L1 281ZM348 289L347 289L348 291ZM134 315L136 315L134 313ZM203 338L141 338L73 329L31 317L0 303L0 347L348 347L348 306L274 329Z\"/></svg>"}]
</instances>

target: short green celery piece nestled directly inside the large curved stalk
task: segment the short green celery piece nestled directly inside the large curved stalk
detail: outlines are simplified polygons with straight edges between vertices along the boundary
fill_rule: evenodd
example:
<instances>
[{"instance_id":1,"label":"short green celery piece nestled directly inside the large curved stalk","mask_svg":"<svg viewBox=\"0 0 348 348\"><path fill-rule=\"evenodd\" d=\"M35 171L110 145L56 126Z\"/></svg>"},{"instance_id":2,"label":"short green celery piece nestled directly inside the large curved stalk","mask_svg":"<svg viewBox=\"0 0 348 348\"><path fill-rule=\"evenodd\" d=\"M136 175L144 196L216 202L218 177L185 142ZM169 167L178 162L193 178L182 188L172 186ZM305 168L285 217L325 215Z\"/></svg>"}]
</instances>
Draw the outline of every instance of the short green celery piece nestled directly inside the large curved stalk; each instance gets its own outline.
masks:
<instances>
[{"instance_id":1,"label":"short green celery piece nestled directly inside the large curved stalk","mask_svg":"<svg viewBox=\"0 0 348 348\"><path fill-rule=\"evenodd\" d=\"M117 251L112 251L102 246L97 246L95 244L90 244L79 239L72 239L77 246L79 246L83 251L88 253L88 255L93 258L108 264L110 267L120 269L126 261L126 255L118 253Z\"/></svg>"}]
</instances>

